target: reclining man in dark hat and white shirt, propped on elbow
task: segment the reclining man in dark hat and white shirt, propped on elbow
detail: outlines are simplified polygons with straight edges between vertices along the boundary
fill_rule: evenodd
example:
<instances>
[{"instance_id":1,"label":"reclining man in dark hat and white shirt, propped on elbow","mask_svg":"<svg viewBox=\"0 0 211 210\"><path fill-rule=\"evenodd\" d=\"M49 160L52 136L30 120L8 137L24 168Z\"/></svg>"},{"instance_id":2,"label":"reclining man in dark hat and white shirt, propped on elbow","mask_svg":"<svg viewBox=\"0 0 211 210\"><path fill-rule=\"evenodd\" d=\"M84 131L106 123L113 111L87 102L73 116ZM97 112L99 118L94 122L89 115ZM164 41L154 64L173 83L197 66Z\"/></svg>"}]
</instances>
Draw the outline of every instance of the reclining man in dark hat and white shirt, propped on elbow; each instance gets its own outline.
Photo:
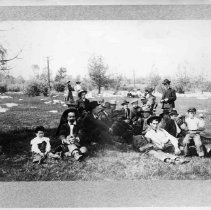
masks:
<instances>
[{"instance_id":1,"label":"reclining man in dark hat and white shirt, propped on elbow","mask_svg":"<svg viewBox=\"0 0 211 210\"><path fill-rule=\"evenodd\" d=\"M139 148L140 152L149 151L150 155L168 163L185 163L189 162L178 155L181 151L178 146L178 140L170 135L167 131L159 128L161 118L159 116L151 116L147 120L149 129L145 134L146 145ZM174 154L170 152L174 151Z\"/></svg>"}]
</instances>

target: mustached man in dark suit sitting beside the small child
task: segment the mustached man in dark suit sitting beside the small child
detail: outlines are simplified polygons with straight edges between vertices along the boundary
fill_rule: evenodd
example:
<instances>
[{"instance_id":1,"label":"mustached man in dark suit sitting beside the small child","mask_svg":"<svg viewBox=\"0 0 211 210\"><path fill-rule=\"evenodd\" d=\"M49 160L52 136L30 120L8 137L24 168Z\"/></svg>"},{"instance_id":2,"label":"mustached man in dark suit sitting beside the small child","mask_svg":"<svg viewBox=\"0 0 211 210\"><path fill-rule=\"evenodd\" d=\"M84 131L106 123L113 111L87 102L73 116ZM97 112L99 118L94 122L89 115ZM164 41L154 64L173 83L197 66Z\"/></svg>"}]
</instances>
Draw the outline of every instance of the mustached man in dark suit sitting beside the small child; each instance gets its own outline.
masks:
<instances>
[{"instance_id":1,"label":"mustached man in dark suit sitting beside the small child","mask_svg":"<svg viewBox=\"0 0 211 210\"><path fill-rule=\"evenodd\" d=\"M71 156L75 160L81 161L87 153L87 148L81 145L80 128L77 125L74 109L68 111L67 121L67 123L62 124L59 131L59 139L62 141L64 148L63 152L65 156Z\"/></svg>"}]
</instances>

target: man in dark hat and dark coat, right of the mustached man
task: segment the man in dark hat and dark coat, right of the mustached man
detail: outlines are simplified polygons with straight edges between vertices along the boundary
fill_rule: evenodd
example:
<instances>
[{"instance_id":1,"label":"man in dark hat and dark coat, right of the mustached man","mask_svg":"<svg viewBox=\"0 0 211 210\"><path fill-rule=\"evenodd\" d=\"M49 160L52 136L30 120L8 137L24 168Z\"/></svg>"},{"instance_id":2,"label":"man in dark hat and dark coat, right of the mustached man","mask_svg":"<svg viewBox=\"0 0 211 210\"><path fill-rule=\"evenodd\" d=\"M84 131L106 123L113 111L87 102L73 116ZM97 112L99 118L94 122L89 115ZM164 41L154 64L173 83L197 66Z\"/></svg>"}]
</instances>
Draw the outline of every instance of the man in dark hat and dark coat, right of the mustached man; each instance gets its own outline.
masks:
<instances>
[{"instance_id":1,"label":"man in dark hat and dark coat, right of the mustached man","mask_svg":"<svg viewBox=\"0 0 211 210\"><path fill-rule=\"evenodd\" d=\"M97 101L91 101L89 104L89 113L85 116L82 126L82 136L84 143L106 143L109 142L109 126L98 119L102 111Z\"/></svg>"}]
</instances>

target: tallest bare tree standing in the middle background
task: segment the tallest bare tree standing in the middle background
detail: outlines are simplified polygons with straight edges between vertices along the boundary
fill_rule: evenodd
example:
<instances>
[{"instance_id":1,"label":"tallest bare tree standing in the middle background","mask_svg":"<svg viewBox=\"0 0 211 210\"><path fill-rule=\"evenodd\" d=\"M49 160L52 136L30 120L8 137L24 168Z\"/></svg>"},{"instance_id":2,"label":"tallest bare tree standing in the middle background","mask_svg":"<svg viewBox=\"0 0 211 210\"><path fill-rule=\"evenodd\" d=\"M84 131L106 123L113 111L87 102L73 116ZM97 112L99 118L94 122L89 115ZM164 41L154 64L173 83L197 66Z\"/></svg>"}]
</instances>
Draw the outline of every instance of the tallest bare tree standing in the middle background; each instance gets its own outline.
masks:
<instances>
[{"instance_id":1,"label":"tallest bare tree standing in the middle background","mask_svg":"<svg viewBox=\"0 0 211 210\"><path fill-rule=\"evenodd\" d=\"M89 59L88 70L89 77L100 94L101 88L107 87L110 83L110 77L107 75L108 65L104 64L101 56L95 56Z\"/></svg>"}]
</instances>

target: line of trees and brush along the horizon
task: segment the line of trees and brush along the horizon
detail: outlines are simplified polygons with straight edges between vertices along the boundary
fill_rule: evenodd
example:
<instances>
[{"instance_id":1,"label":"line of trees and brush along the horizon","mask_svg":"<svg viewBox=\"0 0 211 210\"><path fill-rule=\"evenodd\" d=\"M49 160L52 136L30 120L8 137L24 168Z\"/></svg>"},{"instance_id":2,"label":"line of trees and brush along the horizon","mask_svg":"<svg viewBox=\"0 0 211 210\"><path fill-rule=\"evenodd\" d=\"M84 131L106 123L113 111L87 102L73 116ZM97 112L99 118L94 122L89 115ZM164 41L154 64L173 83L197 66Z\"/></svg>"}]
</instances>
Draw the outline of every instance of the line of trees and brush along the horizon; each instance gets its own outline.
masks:
<instances>
[{"instance_id":1,"label":"line of trees and brush along the horizon","mask_svg":"<svg viewBox=\"0 0 211 210\"><path fill-rule=\"evenodd\" d=\"M134 81L134 78L125 78L121 74L109 73L109 65L105 63L102 56L91 57L88 60L87 70L88 74L86 76L81 77L78 75L73 77L68 75L68 70L65 67L60 67L53 78L52 74L50 74L49 77L46 68L41 71L39 65L34 64L32 66L33 78L30 81L25 81L21 76L14 77L8 72L5 73L1 71L0 86L5 85L9 91L15 92L20 91L24 86L29 86L32 89L36 89L37 94L39 94L39 92L47 94L47 92L49 92L48 83L51 84L52 88L56 91L63 92L67 81L71 81L72 84L75 84L76 81L81 81L83 88L87 90L97 89L98 93L101 93L102 89L129 91L130 89L138 89L146 85L151 86L155 91L162 92L161 82L163 78L159 75L155 66L153 66L152 71L147 77L137 77L136 81ZM195 91L201 91L203 93L204 91L211 91L211 81L206 78L203 72L192 74L188 72L186 68L181 68L180 66L178 72L168 77L168 79L172 81L172 86L178 93ZM134 83L136 83L136 85ZM40 87L35 88L35 86Z\"/></svg>"}]
</instances>

